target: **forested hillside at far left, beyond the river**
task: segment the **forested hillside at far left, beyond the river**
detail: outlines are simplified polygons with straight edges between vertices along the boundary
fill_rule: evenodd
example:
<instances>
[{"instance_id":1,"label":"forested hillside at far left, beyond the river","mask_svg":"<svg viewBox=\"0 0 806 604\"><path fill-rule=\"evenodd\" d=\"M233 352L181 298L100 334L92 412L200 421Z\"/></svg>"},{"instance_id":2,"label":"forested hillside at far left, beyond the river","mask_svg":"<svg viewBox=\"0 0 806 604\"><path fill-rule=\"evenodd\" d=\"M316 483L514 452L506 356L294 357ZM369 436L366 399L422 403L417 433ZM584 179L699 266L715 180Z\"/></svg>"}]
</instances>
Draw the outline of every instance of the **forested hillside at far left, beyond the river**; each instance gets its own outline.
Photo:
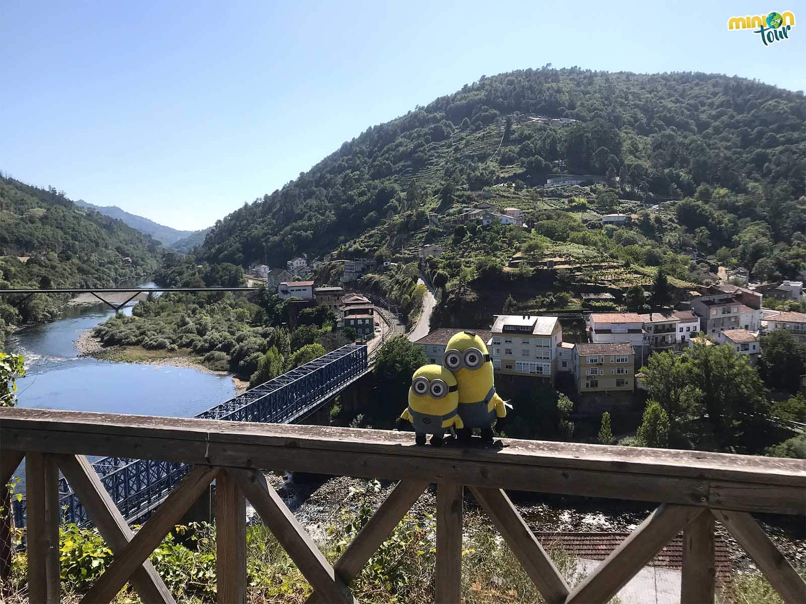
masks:
<instances>
[{"instance_id":1,"label":"forested hillside at far left, beyond the river","mask_svg":"<svg viewBox=\"0 0 806 604\"><path fill-rule=\"evenodd\" d=\"M0 176L0 289L113 287L152 275L160 244L114 218L73 204L64 192ZM60 305L0 298L2 323L44 321Z\"/></svg>"}]
</instances>

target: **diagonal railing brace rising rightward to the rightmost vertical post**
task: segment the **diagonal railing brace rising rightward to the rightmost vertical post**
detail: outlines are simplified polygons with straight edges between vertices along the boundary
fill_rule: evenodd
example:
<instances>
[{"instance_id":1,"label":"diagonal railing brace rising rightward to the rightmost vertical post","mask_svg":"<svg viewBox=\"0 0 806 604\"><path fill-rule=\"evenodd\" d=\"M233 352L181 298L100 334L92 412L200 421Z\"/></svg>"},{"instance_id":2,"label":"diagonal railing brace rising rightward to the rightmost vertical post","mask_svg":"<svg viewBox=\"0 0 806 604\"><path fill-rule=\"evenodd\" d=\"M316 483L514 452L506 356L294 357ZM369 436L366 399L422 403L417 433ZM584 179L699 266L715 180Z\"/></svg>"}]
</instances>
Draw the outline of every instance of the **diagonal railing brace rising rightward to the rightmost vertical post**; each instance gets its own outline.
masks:
<instances>
[{"instance_id":1,"label":"diagonal railing brace rising rightward to the rightmost vertical post","mask_svg":"<svg viewBox=\"0 0 806 604\"><path fill-rule=\"evenodd\" d=\"M672 537L700 515L698 507L662 504L568 595L567 604L607 602Z\"/></svg>"}]
</instances>

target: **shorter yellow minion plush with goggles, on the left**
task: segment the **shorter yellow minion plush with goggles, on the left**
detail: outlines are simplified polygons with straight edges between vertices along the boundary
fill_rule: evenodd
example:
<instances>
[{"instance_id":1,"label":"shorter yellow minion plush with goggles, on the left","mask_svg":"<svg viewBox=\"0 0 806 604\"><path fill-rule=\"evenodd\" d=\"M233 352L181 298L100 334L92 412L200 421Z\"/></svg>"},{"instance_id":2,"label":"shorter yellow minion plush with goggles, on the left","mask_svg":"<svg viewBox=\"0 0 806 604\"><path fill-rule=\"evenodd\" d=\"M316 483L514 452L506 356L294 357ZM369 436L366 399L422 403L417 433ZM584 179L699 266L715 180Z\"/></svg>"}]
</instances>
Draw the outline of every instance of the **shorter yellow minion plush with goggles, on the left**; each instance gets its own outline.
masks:
<instances>
[{"instance_id":1,"label":"shorter yellow minion plush with goggles, on the left","mask_svg":"<svg viewBox=\"0 0 806 604\"><path fill-rule=\"evenodd\" d=\"M426 444L426 434L431 435L431 445L442 445L442 437L454 426L462 428L459 417L459 393L456 379L445 367L423 365L411 380L409 407L401 419L409 420L414 427L418 445Z\"/></svg>"}]
</instances>

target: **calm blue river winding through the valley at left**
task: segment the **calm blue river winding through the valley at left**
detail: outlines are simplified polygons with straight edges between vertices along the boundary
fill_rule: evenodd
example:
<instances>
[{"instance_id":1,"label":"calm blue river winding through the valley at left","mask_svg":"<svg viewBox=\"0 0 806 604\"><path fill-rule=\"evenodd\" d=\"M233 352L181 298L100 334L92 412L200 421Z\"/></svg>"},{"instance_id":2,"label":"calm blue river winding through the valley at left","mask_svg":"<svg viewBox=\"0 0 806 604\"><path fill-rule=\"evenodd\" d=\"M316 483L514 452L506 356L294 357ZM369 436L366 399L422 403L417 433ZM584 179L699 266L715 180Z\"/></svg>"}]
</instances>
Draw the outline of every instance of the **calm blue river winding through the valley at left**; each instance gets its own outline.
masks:
<instances>
[{"instance_id":1,"label":"calm blue river winding through the valley at left","mask_svg":"<svg viewBox=\"0 0 806 604\"><path fill-rule=\"evenodd\" d=\"M136 287L156 287L141 283ZM132 302L122 312L131 314ZM104 304L67 306L60 319L20 329L6 350L25 355L19 407L192 417L235 395L226 375L79 357L75 341L114 316Z\"/></svg>"}]
</instances>

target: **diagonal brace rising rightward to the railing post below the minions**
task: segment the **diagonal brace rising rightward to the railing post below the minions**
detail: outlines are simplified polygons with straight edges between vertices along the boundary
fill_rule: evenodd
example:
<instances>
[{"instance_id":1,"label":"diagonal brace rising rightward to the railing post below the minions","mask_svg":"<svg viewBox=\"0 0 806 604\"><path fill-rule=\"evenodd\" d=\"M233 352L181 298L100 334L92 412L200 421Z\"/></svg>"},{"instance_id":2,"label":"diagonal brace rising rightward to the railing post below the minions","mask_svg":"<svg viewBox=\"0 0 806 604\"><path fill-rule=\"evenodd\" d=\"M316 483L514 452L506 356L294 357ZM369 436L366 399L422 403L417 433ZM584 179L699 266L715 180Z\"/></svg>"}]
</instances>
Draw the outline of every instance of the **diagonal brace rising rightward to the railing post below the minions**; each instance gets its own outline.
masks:
<instances>
[{"instance_id":1,"label":"diagonal brace rising rightward to the railing post below the minions","mask_svg":"<svg viewBox=\"0 0 806 604\"><path fill-rule=\"evenodd\" d=\"M384 503L380 504L372 518L368 520L333 565L334 572L346 585L349 585L350 581L358 576L361 569L364 569L364 565L367 564L372 554L393 532L427 486L427 482L420 481L402 480L397 483L397 486L384 499ZM306 604L315 602L322 602L322 598L317 592L311 594L305 601Z\"/></svg>"}]
</instances>

